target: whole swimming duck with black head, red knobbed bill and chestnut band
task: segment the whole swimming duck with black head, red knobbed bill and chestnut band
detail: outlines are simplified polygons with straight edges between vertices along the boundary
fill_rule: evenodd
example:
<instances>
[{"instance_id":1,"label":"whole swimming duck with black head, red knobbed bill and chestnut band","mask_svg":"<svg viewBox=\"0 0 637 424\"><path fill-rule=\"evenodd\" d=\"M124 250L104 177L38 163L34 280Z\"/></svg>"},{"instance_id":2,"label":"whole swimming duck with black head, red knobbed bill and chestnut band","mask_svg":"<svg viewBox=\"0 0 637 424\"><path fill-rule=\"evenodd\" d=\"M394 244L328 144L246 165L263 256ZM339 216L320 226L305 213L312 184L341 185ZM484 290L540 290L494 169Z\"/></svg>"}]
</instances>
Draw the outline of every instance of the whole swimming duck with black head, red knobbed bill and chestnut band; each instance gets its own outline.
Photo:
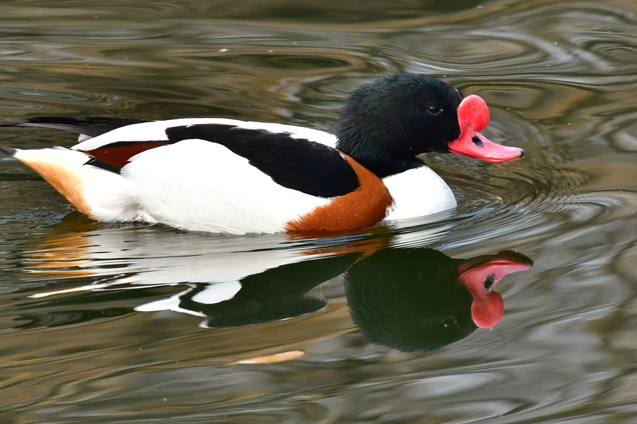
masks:
<instances>
[{"instance_id":1,"label":"whole swimming duck with black head, red knobbed bill and chestnut band","mask_svg":"<svg viewBox=\"0 0 637 424\"><path fill-rule=\"evenodd\" d=\"M419 155L499 163L524 155L480 132L489 108L405 73L350 94L338 131L227 118L32 118L0 127L80 134L71 148L0 146L100 222L228 234L338 232L448 211L447 183Z\"/></svg>"}]
</instances>

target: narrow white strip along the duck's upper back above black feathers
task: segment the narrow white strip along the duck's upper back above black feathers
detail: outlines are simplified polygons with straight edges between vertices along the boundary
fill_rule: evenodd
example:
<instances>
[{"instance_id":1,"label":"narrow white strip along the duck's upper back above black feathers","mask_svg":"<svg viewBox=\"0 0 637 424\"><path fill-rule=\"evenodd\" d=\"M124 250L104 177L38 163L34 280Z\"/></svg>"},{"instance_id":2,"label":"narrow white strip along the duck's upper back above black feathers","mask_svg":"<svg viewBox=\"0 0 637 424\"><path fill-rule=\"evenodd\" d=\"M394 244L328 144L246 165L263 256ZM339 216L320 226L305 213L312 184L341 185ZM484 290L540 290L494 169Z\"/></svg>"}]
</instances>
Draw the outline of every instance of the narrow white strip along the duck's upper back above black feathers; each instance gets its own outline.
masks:
<instances>
[{"instance_id":1,"label":"narrow white strip along the duck's upper back above black feathers","mask_svg":"<svg viewBox=\"0 0 637 424\"><path fill-rule=\"evenodd\" d=\"M93 150L117 141L164 141L168 140L166 129L199 124L237 125L245 129L261 129L270 132L289 134L291 138L303 138L315 141L322 145L334 148L336 136L329 132L318 131L311 128L296 127L294 125L267 124L264 122L239 121L224 118L182 118L168 121L142 122L141 124L127 125L106 132L101 136L87 139L72 147L73 150Z\"/></svg>"}]
</instances>

